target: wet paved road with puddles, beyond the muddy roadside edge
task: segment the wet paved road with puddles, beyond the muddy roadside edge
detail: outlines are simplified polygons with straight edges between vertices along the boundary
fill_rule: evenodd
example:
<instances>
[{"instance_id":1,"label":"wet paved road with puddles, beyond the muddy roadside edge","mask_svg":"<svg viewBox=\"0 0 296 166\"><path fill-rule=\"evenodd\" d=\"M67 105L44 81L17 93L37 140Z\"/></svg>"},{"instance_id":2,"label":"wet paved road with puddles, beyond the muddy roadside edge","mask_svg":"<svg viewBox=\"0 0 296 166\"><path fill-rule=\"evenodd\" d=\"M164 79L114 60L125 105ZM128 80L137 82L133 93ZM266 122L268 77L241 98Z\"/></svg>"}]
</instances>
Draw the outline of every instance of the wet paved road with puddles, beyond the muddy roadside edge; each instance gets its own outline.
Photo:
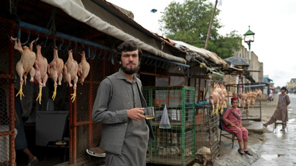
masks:
<instances>
[{"instance_id":1,"label":"wet paved road with puddles, beyond the muddy roadside edge","mask_svg":"<svg viewBox=\"0 0 296 166\"><path fill-rule=\"evenodd\" d=\"M272 132L273 124L267 127L271 132L264 133L263 144L257 151L260 156L251 166L296 166L296 95L289 94L290 105L288 106L289 121L288 132Z\"/></svg>"}]
</instances>

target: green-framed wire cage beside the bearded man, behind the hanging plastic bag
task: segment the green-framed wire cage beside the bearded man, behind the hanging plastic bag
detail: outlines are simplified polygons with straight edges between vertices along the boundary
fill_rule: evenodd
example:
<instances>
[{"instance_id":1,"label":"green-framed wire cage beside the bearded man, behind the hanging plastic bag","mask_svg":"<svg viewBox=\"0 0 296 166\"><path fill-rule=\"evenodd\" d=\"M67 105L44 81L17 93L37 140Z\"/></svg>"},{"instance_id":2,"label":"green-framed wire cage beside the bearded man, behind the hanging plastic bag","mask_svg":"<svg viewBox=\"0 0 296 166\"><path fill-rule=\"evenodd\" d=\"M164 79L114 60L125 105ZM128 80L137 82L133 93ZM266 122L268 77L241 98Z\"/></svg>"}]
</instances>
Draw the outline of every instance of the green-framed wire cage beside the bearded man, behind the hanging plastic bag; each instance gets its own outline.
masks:
<instances>
[{"instance_id":1,"label":"green-framed wire cage beside the bearded man, behind the hanging plastic bag","mask_svg":"<svg viewBox=\"0 0 296 166\"><path fill-rule=\"evenodd\" d=\"M194 161L195 89L191 87L144 87L147 106L155 108L151 125L155 142L149 142L148 163L187 165ZM171 128L160 128L164 108Z\"/></svg>"}]
</instances>

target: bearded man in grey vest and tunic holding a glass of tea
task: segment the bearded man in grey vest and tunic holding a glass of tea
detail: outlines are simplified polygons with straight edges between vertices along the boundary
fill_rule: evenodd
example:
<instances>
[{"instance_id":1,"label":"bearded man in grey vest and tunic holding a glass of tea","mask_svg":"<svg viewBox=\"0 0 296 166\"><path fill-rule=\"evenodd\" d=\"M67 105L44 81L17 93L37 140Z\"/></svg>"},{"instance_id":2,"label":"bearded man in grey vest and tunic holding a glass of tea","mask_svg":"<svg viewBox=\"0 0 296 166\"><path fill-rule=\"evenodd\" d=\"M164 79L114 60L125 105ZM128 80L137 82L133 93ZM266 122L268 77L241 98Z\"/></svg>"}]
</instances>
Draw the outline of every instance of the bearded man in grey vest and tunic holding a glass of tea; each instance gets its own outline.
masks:
<instances>
[{"instance_id":1,"label":"bearded man in grey vest and tunic holding a glass of tea","mask_svg":"<svg viewBox=\"0 0 296 166\"><path fill-rule=\"evenodd\" d=\"M135 41L123 42L117 47L121 68L98 87L92 120L103 124L100 148L106 151L106 166L146 165L148 140L155 140L150 121L143 116L147 105L135 75L142 56Z\"/></svg>"}]
</instances>

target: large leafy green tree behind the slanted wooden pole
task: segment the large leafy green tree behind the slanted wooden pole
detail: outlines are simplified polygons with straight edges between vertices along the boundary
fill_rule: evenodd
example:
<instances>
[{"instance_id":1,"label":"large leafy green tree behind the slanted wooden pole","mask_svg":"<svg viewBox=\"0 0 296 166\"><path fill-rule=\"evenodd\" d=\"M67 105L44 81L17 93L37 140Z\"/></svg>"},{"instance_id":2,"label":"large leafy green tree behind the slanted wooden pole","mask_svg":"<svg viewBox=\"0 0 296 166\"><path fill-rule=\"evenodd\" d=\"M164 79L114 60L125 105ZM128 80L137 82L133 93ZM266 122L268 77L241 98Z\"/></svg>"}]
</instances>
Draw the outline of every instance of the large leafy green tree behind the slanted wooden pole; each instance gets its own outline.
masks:
<instances>
[{"instance_id":1,"label":"large leafy green tree behind the slanted wooden pole","mask_svg":"<svg viewBox=\"0 0 296 166\"><path fill-rule=\"evenodd\" d=\"M161 31L169 39L204 48L213 8L214 5L208 0L171 2L159 20ZM220 10L216 9L207 50L224 59L233 56L234 50L241 48L242 37L237 31L231 31L226 36L217 32L222 27L216 17L219 13Z\"/></svg>"}]
</instances>

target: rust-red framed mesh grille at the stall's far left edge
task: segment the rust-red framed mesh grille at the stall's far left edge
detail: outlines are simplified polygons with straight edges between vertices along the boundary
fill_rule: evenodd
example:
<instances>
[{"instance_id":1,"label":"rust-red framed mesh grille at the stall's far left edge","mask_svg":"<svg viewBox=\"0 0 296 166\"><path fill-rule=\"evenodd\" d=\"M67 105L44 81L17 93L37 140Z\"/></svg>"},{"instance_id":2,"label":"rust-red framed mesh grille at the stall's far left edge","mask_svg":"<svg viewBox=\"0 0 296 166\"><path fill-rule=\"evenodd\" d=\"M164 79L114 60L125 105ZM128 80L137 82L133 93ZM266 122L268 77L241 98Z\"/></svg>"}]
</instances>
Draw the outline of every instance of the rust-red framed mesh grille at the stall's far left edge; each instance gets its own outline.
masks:
<instances>
[{"instance_id":1,"label":"rust-red framed mesh grille at the stall's far left edge","mask_svg":"<svg viewBox=\"0 0 296 166\"><path fill-rule=\"evenodd\" d=\"M0 165L14 165L14 85L12 76L13 44L7 34L12 34L10 23L1 19L0 24ZM17 131L16 131L17 134Z\"/></svg>"}]
</instances>

